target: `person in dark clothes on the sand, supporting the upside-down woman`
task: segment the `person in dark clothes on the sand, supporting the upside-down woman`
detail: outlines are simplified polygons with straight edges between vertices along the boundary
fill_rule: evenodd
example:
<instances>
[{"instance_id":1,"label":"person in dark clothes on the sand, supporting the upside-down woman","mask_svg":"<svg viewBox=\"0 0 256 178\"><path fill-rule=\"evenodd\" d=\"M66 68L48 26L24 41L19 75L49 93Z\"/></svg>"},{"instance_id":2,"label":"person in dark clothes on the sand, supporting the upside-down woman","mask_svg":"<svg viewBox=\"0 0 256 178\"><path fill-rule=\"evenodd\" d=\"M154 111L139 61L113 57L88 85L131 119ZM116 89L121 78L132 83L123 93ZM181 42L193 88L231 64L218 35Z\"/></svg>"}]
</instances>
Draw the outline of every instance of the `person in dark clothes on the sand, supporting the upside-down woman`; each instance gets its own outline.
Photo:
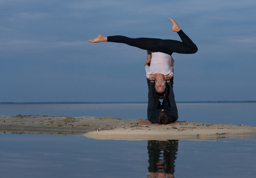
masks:
<instances>
[{"instance_id":1,"label":"person in dark clothes on the sand, supporting the upside-down woman","mask_svg":"<svg viewBox=\"0 0 256 178\"><path fill-rule=\"evenodd\" d=\"M146 59L145 66L150 66L151 56L148 55ZM174 60L171 59L170 66L171 72L173 68ZM163 74L160 74L163 75ZM159 124L168 124L171 122L175 122L178 119L178 111L176 102L174 100L173 93L173 77L171 79L166 80L165 94L163 96L163 104L159 101L159 96L155 92L155 81L148 81L148 120L151 123L159 123ZM163 81L164 82L164 81Z\"/></svg>"}]
</instances>

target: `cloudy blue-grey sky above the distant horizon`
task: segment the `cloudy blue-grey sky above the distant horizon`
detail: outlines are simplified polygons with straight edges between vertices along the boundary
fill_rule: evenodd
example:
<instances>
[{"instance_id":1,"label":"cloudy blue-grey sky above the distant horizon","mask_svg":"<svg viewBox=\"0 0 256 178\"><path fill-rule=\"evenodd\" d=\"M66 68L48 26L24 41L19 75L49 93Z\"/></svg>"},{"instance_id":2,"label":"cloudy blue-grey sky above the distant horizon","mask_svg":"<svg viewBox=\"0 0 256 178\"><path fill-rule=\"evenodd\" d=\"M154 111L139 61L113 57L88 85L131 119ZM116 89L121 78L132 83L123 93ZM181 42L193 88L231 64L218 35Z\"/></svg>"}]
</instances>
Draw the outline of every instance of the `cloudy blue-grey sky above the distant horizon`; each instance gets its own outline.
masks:
<instances>
[{"instance_id":1,"label":"cloudy blue-grey sky above the distant horizon","mask_svg":"<svg viewBox=\"0 0 256 178\"><path fill-rule=\"evenodd\" d=\"M183 101L256 100L254 0L0 0L0 102L147 102L146 51L103 36L180 40L174 94Z\"/></svg>"}]
</instances>

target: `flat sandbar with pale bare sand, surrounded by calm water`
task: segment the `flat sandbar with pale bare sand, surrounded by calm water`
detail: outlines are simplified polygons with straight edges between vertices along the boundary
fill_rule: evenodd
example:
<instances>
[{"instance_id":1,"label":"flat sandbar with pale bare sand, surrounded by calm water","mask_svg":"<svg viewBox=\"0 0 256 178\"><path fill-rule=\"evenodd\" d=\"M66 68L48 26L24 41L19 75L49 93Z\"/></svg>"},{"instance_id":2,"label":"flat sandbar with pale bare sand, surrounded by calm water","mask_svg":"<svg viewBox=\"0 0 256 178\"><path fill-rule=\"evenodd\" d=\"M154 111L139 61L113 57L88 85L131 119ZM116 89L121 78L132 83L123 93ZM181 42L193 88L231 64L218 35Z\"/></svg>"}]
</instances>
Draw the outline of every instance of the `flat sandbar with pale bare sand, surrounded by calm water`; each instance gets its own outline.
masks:
<instances>
[{"instance_id":1,"label":"flat sandbar with pale bare sand, surrounded by calm water","mask_svg":"<svg viewBox=\"0 0 256 178\"><path fill-rule=\"evenodd\" d=\"M142 119L68 116L0 116L0 134L82 134L94 139L166 140L256 137L255 126L180 121L139 125Z\"/></svg>"}]
</instances>

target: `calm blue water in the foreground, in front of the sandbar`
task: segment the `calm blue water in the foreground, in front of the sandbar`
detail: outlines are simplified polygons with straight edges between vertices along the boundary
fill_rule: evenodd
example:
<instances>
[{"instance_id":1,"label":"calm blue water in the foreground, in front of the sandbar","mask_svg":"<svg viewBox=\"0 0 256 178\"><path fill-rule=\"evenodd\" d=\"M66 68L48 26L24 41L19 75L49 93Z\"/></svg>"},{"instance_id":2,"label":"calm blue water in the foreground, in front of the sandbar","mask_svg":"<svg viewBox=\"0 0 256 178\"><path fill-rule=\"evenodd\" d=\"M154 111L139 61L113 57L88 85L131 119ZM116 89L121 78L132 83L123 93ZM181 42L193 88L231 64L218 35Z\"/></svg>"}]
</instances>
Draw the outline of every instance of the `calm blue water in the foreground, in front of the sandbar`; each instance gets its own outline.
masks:
<instances>
[{"instance_id":1,"label":"calm blue water in the foreground, in front of the sandbar","mask_svg":"<svg viewBox=\"0 0 256 178\"><path fill-rule=\"evenodd\" d=\"M147 177L163 171L160 166L176 177L256 173L255 138L158 142L1 134L0 142L1 177Z\"/></svg>"}]
</instances>

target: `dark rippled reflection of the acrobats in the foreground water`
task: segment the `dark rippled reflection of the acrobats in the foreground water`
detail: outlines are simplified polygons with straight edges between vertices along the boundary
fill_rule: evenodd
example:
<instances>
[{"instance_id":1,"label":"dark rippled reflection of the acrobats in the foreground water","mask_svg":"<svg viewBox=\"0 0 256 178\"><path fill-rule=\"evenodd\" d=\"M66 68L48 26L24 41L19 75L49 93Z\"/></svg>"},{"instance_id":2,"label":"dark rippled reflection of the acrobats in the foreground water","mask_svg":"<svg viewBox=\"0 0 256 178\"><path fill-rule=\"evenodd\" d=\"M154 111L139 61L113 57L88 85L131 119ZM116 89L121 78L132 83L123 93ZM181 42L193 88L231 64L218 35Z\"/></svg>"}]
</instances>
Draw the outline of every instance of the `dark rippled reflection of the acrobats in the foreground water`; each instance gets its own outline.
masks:
<instances>
[{"instance_id":1,"label":"dark rippled reflection of the acrobats in the foreground water","mask_svg":"<svg viewBox=\"0 0 256 178\"><path fill-rule=\"evenodd\" d=\"M148 141L148 177L174 177L178 140Z\"/></svg>"}]
</instances>

